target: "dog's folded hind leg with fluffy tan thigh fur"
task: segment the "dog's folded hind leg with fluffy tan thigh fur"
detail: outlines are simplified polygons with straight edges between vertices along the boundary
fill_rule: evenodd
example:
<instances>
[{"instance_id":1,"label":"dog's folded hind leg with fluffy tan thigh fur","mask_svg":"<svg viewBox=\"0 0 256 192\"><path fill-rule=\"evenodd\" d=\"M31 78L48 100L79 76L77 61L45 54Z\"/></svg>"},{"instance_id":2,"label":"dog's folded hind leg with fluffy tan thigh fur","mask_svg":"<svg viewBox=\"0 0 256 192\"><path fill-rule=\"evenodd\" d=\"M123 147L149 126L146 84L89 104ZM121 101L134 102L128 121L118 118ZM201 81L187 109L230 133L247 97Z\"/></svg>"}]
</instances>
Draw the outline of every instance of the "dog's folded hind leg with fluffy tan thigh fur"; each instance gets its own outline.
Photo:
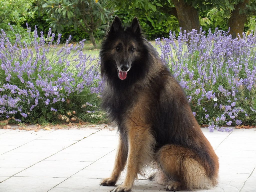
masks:
<instances>
[{"instance_id":1,"label":"dog's folded hind leg with fluffy tan thigh fur","mask_svg":"<svg viewBox=\"0 0 256 192\"><path fill-rule=\"evenodd\" d=\"M208 189L213 181L191 150L177 145L164 145L157 152L158 166L169 178L167 191Z\"/></svg>"}]
</instances>

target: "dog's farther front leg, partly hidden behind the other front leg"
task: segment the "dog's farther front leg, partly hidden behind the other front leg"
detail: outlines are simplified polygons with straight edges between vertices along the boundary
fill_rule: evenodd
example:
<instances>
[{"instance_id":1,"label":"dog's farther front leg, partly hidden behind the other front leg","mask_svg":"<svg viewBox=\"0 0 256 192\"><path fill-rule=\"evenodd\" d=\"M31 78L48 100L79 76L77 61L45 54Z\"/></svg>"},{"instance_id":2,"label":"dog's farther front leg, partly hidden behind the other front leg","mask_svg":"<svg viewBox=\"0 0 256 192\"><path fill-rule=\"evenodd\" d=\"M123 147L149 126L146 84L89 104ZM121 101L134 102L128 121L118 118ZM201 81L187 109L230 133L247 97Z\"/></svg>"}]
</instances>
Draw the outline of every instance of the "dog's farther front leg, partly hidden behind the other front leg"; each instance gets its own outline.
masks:
<instances>
[{"instance_id":1,"label":"dog's farther front leg, partly hidden behind the other front leg","mask_svg":"<svg viewBox=\"0 0 256 192\"><path fill-rule=\"evenodd\" d=\"M116 157L115 157L114 169L109 178L102 179L102 181L100 182L100 185L114 186L118 177L123 171L126 163L126 159L127 159L127 154L128 154L128 146L125 140L126 139L125 138L122 139L120 135L119 146L118 146L118 150L116 152Z\"/></svg>"}]
</instances>

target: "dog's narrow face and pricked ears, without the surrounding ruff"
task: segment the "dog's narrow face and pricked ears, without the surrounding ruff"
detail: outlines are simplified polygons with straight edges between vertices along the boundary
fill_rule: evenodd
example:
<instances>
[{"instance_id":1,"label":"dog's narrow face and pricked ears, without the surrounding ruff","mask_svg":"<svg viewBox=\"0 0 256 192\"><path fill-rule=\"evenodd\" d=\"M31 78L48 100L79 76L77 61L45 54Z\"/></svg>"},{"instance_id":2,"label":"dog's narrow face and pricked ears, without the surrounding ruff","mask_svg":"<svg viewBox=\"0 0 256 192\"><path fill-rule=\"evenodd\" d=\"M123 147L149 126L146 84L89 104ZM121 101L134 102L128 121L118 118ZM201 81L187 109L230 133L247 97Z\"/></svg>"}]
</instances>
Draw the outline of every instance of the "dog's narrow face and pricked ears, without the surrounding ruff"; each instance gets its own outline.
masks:
<instances>
[{"instance_id":1,"label":"dog's narrow face and pricked ears, without the surrounding ruff","mask_svg":"<svg viewBox=\"0 0 256 192\"><path fill-rule=\"evenodd\" d=\"M138 58L140 46L135 40L140 35L140 26L137 17L132 21L131 31L124 31L121 20L115 17L109 35L116 37L111 46L111 54L115 61L117 75L121 80L126 79L127 73L132 67L133 61Z\"/></svg>"}]
</instances>

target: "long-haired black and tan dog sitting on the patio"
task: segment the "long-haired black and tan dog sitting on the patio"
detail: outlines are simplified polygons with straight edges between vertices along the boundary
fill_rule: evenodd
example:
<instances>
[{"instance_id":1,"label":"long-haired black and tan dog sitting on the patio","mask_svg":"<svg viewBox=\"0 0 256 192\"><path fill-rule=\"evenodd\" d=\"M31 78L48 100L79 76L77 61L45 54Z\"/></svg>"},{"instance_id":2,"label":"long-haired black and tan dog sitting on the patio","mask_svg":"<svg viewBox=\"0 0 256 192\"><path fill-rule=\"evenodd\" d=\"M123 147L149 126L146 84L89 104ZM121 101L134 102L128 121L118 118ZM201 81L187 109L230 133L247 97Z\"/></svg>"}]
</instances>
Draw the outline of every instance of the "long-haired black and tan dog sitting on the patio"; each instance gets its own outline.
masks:
<instances>
[{"instance_id":1,"label":"long-haired black and tan dog sitting on the patio","mask_svg":"<svg viewBox=\"0 0 256 192\"><path fill-rule=\"evenodd\" d=\"M100 185L114 186L126 166L124 182L115 191L131 191L137 174L154 165L156 173L148 179L166 185L167 191L215 186L218 157L136 17L126 28L114 18L100 58L102 109L120 136L112 174Z\"/></svg>"}]
</instances>

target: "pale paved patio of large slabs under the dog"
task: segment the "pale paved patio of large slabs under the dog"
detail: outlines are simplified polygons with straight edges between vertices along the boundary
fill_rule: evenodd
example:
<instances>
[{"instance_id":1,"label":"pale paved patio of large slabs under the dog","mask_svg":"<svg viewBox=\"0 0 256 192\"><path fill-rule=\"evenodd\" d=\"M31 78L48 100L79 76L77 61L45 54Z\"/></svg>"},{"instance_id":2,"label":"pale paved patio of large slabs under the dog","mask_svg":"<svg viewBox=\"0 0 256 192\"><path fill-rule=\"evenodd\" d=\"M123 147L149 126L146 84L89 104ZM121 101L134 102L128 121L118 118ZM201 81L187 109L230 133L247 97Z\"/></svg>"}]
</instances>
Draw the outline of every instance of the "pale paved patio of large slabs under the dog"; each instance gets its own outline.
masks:
<instances>
[{"instance_id":1,"label":"pale paved patio of large slabs under the dog","mask_svg":"<svg viewBox=\"0 0 256 192\"><path fill-rule=\"evenodd\" d=\"M116 131L108 129L112 127L38 132L0 129L0 191L112 191L114 187L99 186L110 175L118 142ZM215 188L198 191L255 192L256 129L202 131L219 156L220 174ZM133 191L165 191L165 186L146 178L140 177Z\"/></svg>"}]
</instances>

